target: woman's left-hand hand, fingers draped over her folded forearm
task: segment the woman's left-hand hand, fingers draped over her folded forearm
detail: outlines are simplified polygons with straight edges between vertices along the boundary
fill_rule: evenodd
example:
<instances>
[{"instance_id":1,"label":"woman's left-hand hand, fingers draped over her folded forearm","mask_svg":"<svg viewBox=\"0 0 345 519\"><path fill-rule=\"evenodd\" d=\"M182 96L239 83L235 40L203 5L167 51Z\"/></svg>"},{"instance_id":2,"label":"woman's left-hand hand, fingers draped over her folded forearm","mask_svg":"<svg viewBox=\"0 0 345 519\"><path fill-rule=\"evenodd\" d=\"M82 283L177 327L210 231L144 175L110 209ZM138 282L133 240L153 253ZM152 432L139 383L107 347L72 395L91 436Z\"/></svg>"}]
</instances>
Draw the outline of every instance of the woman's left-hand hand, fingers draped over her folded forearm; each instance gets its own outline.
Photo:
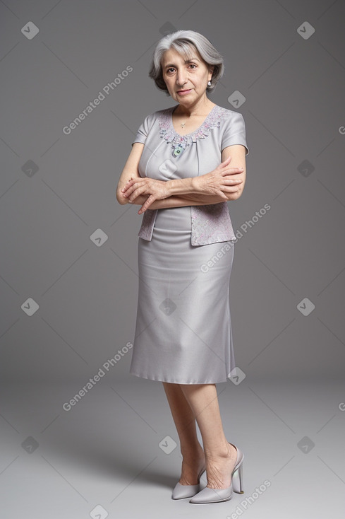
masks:
<instances>
[{"instance_id":1,"label":"woman's left-hand hand, fingers draped over her folded forearm","mask_svg":"<svg viewBox=\"0 0 345 519\"><path fill-rule=\"evenodd\" d=\"M169 188L165 180L155 180L150 177L132 178L128 180L125 187L121 189L123 197L128 198L128 202L133 203L140 194L148 194L145 204L141 207L145 211L155 200L162 200L170 197Z\"/></svg>"}]
</instances>

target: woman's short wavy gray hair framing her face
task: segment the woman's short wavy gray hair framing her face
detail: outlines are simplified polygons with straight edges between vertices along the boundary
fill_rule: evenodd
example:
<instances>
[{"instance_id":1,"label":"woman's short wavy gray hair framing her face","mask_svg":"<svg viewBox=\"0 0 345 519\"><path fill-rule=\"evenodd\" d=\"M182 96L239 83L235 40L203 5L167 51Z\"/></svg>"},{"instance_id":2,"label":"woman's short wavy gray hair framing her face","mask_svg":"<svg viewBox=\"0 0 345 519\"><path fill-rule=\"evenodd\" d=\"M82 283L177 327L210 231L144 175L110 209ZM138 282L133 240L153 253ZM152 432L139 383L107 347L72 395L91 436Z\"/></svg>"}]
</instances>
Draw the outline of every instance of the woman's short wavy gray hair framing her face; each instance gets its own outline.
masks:
<instances>
[{"instance_id":1,"label":"woman's short wavy gray hair framing her face","mask_svg":"<svg viewBox=\"0 0 345 519\"><path fill-rule=\"evenodd\" d=\"M152 78L159 90L165 91L167 95L169 91L163 79L162 57L165 51L173 48L183 55L185 59L190 59L193 47L199 52L206 66L214 66L211 78L211 86L207 86L206 91L214 91L217 81L224 74L224 60L212 43L200 33L194 30L177 30L162 37L156 45L152 55L149 77Z\"/></svg>"}]
</instances>

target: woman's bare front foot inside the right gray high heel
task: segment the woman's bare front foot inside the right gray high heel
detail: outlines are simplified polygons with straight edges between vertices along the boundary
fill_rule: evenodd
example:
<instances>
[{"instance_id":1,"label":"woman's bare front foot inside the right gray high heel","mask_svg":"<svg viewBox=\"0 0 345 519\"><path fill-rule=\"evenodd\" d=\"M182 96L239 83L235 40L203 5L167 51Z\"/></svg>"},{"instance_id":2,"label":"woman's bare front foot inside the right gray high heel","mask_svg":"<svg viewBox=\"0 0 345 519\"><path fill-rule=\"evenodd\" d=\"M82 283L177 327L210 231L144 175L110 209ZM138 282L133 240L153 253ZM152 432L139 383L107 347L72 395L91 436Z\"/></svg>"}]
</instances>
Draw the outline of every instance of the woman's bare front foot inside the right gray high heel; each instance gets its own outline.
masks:
<instances>
[{"instance_id":1,"label":"woman's bare front foot inside the right gray high heel","mask_svg":"<svg viewBox=\"0 0 345 519\"><path fill-rule=\"evenodd\" d=\"M231 443L227 444L224 454L207 458L206 472L209 489L226 489L230 486L236 459L237 450Z\"/></svg>"}]
</instances>

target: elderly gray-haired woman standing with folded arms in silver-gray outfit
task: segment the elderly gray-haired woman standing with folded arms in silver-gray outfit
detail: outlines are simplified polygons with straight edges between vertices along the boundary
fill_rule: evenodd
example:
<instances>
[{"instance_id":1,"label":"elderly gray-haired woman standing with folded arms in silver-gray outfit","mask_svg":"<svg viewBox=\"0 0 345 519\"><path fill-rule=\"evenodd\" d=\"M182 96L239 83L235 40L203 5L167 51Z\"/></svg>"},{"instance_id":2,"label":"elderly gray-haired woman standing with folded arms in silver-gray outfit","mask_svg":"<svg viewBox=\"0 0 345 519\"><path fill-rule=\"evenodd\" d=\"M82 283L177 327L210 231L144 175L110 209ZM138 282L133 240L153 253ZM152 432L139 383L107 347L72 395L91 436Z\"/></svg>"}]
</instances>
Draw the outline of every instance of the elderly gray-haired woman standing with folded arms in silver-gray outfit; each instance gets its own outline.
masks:
<instances>
[{"instance_id":1,"label":"elderly gray-haired woman standing with folded arms in silver-gray outfit","mask_svg":"<svg viewBox=\"0 0 345 519\"><path fill-rule=\"evenodd\" d=\"M143 214L130 373L164 385L183 457L171 497L190 503L243 494L243 453L224 435L216 383L235 368L227 201L241 197L249 151L243 116L207 97L223 71L217 49L193 30L159 40L149 76L177 104L145 117L116 189L120 204Z\"/></svg>"}]
</instances>

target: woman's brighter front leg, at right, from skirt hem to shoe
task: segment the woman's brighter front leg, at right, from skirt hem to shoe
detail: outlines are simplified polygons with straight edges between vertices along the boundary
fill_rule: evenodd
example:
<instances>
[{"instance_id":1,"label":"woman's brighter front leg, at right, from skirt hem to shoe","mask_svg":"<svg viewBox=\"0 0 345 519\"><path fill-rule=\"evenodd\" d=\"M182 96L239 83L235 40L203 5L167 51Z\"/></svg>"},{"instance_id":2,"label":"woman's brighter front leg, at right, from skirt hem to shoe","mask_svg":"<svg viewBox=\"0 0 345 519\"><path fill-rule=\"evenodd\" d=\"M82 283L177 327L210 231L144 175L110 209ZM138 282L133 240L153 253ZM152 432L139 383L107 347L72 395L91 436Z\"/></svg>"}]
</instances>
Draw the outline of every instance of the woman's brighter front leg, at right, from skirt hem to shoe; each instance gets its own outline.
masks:
<instances>
[{"instance_id":1,"label":"woman's brighter front leg, at right, from skirt hem to shoe","mask_svg":"<svg viewBox=\"0 0 345 519\"><path fill-rule=\"evenodd\" d=\"M216 385L181 384L180 387L200 428L206 459L207 486L225 489L231 483L231 472L236 465L237 454L224 435Z\"/></svg>"}]
</instances>

